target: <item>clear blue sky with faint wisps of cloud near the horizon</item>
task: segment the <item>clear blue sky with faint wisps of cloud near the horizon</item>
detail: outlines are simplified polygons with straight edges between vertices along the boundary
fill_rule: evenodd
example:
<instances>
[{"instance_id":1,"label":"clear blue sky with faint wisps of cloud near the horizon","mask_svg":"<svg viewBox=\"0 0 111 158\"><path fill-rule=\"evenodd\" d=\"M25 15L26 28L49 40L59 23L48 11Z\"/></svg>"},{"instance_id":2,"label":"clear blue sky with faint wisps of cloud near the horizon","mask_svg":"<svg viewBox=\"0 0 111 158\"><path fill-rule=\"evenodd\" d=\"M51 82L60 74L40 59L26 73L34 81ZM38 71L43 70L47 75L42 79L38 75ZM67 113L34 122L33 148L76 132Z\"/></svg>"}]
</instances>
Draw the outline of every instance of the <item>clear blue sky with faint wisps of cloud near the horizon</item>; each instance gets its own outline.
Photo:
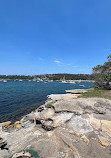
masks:
<instances>
[{"instance_id":1,"label":"clear blue sky with faint wisps of cloud near the horizon","mask_svg":"<svg viewBox=\"0 0 111 158\"><path fill-rule=\"evenodd\" d=\"M111 54L111 0L1 0L0 74L91 73Z\"/></svg>"}]
</instances>

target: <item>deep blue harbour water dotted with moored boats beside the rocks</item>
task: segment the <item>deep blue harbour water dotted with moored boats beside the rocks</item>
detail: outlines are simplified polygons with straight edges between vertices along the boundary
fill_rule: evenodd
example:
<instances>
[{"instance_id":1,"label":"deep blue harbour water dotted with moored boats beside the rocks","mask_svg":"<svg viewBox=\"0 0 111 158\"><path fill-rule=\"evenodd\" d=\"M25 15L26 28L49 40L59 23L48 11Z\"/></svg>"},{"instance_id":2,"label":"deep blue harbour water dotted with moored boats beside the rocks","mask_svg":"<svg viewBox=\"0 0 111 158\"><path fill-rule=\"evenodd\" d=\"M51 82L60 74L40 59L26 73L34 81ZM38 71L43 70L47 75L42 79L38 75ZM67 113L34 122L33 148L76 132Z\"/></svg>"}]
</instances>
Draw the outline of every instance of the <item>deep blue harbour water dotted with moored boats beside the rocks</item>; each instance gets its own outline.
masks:
<instances>
[{"instance_id":1,"label":"deep blue harbour water dotted with moored boats beside the rocks","mask_svg":"<svg viewBox=\"0 0 111 158\"><path fill-rule=\"evenodd\" d=\"M79 85L84 85L80 87ZM42 105L49 94L64 94L69 89L88 89L92 82L36 82L24 80L7 82L0 81L0 122L16 121Z\"/></svg>"}]
</instances>

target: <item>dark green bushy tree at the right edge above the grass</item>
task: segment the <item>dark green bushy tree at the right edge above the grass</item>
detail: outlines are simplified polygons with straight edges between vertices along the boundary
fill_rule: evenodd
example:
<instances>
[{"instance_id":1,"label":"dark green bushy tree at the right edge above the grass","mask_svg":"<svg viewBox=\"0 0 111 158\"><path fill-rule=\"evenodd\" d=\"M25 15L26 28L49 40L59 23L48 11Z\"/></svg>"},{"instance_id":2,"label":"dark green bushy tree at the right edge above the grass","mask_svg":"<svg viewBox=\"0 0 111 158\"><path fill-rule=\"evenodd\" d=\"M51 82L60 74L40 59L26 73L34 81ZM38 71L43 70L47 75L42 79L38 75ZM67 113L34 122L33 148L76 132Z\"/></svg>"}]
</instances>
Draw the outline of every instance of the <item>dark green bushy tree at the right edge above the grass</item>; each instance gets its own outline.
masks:
<instances>
[{"instance_id":1,"label":"dark green bushy tree at the right edge above the grass","mask_svg":"<svg viewBox=\"0 0 111 158\"><path fill-rule=\"evenodd\" d=\"M108 61L103 65L97 65L93 68L95 88L111 89L111 55L107 59Z\"/></svg>"}]
</instances>

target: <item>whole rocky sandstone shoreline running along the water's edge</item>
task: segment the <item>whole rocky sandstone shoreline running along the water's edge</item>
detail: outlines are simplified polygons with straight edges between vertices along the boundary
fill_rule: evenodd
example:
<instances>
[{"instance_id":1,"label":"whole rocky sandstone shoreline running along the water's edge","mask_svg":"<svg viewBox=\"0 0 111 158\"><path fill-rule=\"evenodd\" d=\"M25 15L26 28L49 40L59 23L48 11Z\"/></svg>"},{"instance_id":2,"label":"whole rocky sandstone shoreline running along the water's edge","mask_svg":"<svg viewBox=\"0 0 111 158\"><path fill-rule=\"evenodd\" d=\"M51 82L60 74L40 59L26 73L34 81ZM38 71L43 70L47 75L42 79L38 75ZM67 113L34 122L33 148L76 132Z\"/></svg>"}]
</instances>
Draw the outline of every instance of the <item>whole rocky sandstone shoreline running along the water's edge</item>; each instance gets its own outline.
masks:
<instances>
[{"instance_id":1,"label":"whole rocky sandstone shoreline running along the water's edge","mask_svg":"<svg viewBox=\"0 0 111 158\"><path fill-rule=\"evenodd\" d=\"M110 158L111 100L78 98L86 91L49 95L15 124L0 124L0 158L27 149L40 158Z\"/></svg>"}]
</instances>

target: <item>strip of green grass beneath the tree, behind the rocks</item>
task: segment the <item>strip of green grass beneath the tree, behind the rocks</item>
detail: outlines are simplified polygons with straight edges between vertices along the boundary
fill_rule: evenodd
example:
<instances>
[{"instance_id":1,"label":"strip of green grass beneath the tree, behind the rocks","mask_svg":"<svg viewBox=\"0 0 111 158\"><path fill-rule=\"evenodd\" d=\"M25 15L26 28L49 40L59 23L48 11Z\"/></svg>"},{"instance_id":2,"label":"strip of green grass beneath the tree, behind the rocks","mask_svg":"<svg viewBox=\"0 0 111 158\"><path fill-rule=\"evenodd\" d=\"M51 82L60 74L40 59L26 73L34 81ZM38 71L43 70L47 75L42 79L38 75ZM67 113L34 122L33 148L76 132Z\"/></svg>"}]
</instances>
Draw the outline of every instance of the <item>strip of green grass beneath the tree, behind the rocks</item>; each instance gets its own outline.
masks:
<instances>
[{"instance_id":1,"label":"strip of green grass beneath the tree, behind the rocks","mask_svg":"<svg viewBox=\"0 0 111 158\"><path fill-rule=\"evenodd\" d=\"M79 96L79 98L92 97L111 99L111 90L89 89L86 93L83 93Z\"/></svg>"}]
</instances>

